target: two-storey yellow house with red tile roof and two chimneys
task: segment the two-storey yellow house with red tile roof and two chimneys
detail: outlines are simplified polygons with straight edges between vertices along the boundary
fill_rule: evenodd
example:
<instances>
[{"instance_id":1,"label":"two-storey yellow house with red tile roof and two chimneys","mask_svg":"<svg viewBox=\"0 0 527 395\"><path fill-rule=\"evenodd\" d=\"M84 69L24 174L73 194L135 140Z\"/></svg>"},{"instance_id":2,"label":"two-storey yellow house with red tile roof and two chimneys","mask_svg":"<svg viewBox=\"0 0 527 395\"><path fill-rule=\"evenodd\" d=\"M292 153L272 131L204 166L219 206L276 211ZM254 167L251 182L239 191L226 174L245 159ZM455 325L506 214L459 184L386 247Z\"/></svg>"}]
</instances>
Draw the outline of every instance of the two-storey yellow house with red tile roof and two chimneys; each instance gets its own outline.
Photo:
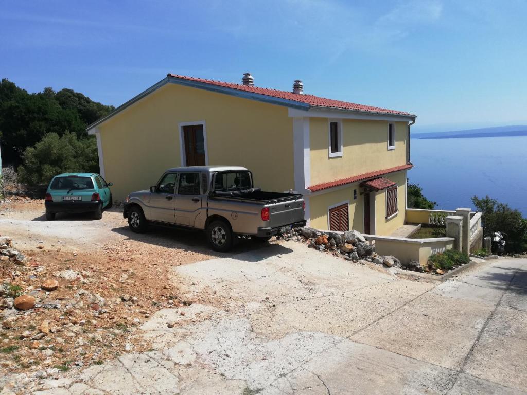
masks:
<instances>
[{"instance_id":1,"label":"two-storey yellow house with red tile roof and two chimneys","mask_svg":"<svg viewBox=\"0 0 527 395\"><path fill-rule=\"evenodd\" d=\"M404 224L415 115L304 94L168 74L87 127L115 200L165 169L241 165L264 190L302 193L324 230L386 235Z\"/></svg>"}]
</instances>

